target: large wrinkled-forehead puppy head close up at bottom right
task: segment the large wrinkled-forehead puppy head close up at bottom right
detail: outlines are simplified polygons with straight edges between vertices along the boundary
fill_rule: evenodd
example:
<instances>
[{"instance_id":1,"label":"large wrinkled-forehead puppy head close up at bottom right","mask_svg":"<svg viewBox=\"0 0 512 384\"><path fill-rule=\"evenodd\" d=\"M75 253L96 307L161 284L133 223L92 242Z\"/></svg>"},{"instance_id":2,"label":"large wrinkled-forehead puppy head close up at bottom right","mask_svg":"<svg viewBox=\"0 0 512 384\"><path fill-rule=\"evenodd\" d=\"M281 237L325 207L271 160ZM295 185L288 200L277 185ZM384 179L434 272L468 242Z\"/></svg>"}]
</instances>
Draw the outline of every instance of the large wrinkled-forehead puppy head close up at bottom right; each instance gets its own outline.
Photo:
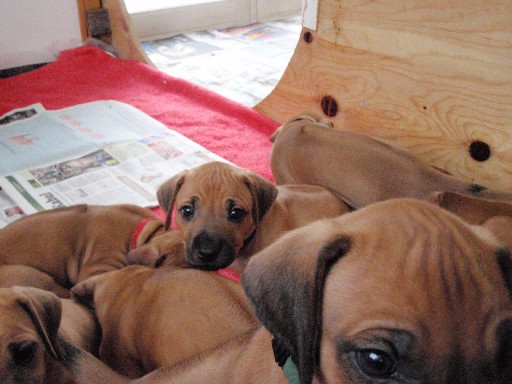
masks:
<instances>
[{"instance_id":1,"label":"large wrinkled-forehead puppy head close up at bottom right","mask_svg":"<svg viewBox=\"0 0 512 384\"><path fill-rule=\"evenodd\" d=\"M409 199L294 230L242 277L303 384L508 383L511 281L487 231Z\"/></svg>"}]
</instances>

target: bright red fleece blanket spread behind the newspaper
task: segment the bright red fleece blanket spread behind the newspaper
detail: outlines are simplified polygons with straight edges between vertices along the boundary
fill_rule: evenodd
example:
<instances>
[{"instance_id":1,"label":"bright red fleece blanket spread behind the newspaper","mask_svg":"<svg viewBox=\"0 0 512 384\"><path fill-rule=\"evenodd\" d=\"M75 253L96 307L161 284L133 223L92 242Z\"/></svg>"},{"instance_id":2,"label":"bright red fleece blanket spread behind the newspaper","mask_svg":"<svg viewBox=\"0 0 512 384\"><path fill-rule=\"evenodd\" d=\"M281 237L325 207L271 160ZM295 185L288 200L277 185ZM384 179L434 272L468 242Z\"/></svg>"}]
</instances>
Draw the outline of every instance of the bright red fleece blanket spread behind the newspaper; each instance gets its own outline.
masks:
<instances>
[{"instance_id":1,"label":"bright red fleece blanket spread behind the newspaper","mask_svg":"<svg viewBox=\"0 0 512 384\"><path fill-rule=\"evenodd\" d=\"M0 115L38 102L60 109L95 100L131 104L226 160L273 180L269 136L278 126L275 121L149 65L80 47L35 71L0 79Z\"/></svg>"}]
</instances>

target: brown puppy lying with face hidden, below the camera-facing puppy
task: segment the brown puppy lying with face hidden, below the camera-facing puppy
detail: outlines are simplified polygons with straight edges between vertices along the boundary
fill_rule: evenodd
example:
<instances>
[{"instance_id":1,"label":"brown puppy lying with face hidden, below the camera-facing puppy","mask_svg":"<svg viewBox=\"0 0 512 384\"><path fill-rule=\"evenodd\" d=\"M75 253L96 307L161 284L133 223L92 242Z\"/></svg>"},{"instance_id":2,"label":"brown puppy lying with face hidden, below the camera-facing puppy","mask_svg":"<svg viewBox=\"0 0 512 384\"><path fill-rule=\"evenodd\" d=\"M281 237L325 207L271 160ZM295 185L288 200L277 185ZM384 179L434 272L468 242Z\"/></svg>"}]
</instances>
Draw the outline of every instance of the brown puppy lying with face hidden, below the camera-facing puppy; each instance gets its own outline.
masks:
<instances>
[{"instance_id":1,"label":"brown puppy lying with face hidden, below the camera-facing puppy","mask_svg":"<svg viewBox=\"0 0 512 384\"><path fill-rule=\"evenodd\" d=\"M215 272L129 266L72 292L95 308L99 357L129 377L188 359L257 322L242 286Z\"/></svg>"}]
</instances>

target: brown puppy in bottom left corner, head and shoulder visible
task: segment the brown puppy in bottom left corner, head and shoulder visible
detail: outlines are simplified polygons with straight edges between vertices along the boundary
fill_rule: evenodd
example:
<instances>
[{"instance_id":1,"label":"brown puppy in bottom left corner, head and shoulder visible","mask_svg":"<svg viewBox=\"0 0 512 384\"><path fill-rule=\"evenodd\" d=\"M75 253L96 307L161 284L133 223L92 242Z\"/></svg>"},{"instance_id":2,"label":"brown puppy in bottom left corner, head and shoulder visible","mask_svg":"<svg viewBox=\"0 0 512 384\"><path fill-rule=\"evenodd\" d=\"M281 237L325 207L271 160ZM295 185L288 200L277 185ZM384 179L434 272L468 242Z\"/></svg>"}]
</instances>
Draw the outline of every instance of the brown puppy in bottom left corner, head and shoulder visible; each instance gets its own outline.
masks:
<instances>
[{"instance_id":1,"label":"brown puppy in bottom left corner, head and shoulder visible","mask_svg":"<svg viewBox=\"0 0 512 384\"><path fill-rule=\"evenodd\" d=\"M100 330L84 306L36 288L0 288L0 382L74 383L52 358L49 339L57 332L84 350L97 352Z\"/></svg>"}]
</instances>

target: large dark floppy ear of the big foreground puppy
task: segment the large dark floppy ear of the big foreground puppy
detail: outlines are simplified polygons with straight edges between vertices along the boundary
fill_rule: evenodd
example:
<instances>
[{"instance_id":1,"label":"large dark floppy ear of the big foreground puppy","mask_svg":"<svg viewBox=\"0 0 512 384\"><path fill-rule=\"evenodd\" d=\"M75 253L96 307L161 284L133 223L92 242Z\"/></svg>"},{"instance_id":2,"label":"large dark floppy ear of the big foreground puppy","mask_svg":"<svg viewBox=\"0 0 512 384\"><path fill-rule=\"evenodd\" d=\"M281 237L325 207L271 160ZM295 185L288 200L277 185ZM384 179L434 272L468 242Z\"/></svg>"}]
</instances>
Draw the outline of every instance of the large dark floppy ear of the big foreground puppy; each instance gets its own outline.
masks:
<instances>
[{"instance_id":1,"label":"large dark floppy ear of the big foreground puppy","mask_svg":"<svg viewBox=\"0 0 512 384\"><path fill-rule=\"evenodd\" d=\"M302 228L285 235L253 256L242 275L257 316L288 351L302 384L319 364L325 279L351 245L347 236L329 235L304 250L306 235Z\"/></svg>"}]
</instances>

